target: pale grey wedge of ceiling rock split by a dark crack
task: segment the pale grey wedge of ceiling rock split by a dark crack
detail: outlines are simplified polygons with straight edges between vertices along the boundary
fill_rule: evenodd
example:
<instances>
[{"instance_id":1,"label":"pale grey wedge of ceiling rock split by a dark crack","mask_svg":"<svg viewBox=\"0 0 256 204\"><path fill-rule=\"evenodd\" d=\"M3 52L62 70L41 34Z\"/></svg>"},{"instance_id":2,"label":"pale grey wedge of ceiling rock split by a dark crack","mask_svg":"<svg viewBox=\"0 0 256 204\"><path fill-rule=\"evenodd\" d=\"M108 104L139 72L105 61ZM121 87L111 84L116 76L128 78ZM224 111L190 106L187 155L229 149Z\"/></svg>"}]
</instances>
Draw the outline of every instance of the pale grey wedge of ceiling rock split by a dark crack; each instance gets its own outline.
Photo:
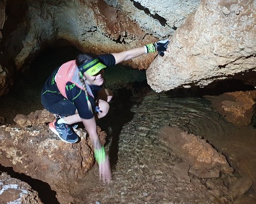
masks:
<instances>
[{"instance_id":1,"label":"pale grey wedge of ceiling rock split by a dark crack","mask_svg":"<svg viewBox=\"0 0 256 204\"><path fill-rule=\"evenodd\" d=\"M104 0L135 20L143 30L157 38L173 35L187 15L197 9L199 0Z\"/></svg>"}]
</instances>

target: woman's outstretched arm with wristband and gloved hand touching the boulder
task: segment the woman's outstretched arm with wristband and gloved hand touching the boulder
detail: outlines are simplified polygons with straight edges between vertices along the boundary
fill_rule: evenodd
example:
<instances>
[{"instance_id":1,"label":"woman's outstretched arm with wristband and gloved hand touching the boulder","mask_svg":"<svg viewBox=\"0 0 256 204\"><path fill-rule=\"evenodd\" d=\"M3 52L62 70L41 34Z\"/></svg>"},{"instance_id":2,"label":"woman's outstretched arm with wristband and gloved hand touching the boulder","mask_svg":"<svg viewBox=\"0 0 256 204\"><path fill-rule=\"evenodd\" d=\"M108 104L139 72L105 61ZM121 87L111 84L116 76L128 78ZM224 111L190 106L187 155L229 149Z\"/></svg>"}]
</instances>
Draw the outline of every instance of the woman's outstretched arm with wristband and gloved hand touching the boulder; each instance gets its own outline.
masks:
<instances>
[{"instance_id":1,"label":"woman's outstretched arm with wristband and gloved hand touching the boulder","mask_svg":"<svg viewBox=\"0 0 256 204\"><path fill-rule=\"evenodd\" d=\"M145 46L125 50L120 53L112 53L112 55L116 59L116 64L126 60L131 60L146 53L158 52L159 55L164 56L164 51L166 51L168 43L169 40L160 40L155 43L146 44Z\"/></svg>"}]
</instances>

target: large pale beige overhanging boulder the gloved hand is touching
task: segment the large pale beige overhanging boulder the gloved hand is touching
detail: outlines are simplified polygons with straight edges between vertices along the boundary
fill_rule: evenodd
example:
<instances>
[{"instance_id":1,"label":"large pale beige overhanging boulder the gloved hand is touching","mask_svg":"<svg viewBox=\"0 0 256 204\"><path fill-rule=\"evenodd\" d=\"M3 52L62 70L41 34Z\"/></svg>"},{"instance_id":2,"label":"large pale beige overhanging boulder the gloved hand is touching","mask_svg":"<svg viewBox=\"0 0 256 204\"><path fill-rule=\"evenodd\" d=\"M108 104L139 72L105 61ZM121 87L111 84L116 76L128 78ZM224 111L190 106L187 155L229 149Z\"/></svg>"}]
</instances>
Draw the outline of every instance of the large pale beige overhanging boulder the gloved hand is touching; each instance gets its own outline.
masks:
<instances>
[{"instance_id":1,"label":"large pale beige overhanging boulder the gloved hand is touching","mask_svg":"<svg viewBox=\"0 0 256 204\"><path fill-rule=\"evenodd\" d=\"M253 0L201 1L170 38L168 52L147 69L148 84L156 92L182 85L204 87L255 71L255 9Z\"/></svg>"}]
</instances>

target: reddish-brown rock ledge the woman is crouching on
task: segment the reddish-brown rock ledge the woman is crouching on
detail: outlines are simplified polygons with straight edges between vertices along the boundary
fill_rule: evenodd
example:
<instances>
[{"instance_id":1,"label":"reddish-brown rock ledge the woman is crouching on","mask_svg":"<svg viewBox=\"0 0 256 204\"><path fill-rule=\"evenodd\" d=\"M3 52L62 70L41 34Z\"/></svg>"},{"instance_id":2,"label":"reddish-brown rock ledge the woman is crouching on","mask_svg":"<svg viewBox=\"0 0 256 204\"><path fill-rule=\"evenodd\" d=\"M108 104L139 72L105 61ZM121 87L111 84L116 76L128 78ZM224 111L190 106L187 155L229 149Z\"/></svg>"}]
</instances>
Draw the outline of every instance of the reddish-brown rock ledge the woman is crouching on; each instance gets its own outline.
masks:
<instances>
[{"instance_id":1,"label":"reddish-brown rock ledge the woman is crouching on","mask_svg":"<svg viewBox=\"0 0 256 204\"><path fill-rule=\"evenodd\" d=\"M91 141L84 130L78 129L76 133L81 138L78 143L62 142L44 123L46 118L40 118L40 115L48 114L36 111L27 117L31 121L36 118L30 127L0 126L1 164L48 183L57 192L60 203L72 202L76 194L74 183L84 178L95 163ZM27 123L21 123L27 126ZM97 128L104 144L106 134Z\"/></svg>"}]
</instances>

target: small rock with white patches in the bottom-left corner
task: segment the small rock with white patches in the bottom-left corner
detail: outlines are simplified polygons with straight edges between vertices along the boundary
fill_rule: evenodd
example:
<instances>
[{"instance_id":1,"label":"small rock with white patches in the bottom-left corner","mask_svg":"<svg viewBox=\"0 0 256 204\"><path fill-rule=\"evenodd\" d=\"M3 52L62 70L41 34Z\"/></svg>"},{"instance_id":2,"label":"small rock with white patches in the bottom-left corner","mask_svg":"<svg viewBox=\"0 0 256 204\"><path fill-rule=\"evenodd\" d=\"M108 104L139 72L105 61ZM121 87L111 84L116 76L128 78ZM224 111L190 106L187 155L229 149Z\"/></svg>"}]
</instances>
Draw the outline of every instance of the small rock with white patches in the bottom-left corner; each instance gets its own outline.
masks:
<instances>
[{"instance_id":1,"label":"small rock with white patches in the bottom-left corner","mask_svg":"<svg viewBox=\"0 0 256 204\"><path fill-rule=\"evenodd\" d=\"M27 183L6 173L0 174L0 203L43 204Z\"/></svg>"}]
</instances>

